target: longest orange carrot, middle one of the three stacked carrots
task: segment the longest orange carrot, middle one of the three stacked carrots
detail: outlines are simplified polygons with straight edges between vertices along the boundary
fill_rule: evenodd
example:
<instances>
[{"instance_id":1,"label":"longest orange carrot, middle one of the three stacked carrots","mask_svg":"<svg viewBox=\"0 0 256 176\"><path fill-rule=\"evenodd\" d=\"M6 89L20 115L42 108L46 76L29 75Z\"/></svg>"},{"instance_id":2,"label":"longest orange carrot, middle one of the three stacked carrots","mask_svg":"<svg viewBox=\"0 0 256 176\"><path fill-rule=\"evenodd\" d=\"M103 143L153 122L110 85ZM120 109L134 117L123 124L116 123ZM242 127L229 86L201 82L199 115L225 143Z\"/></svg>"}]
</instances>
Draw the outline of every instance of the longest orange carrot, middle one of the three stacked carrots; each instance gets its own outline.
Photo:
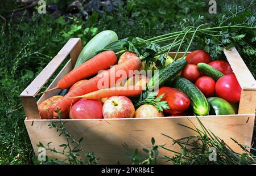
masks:
<instances>
[{"instance_id":1,"label":"longest orange carrot, middle one of the three stacked carrots","mask_svg":"<svg viewBox=\"0 0 256 176\"><path fill-rule=\"evenodd\" d=\"M110 78L110 73L114 71L114 83L109 84L108 87L112 87L115 85L115 82L122 78L122 75L117 75L117 71L125 71L126 75L129 75L129 71L139 70L141 68L141 59L138 57L133 57L128 59L127 61L120 63L119 65L115 65L110 70L101 72L97 76L94 76L93 78L89 79L88 81L85 81L84 83L80 84L78 87L72 89L71 92L68 92L67 95L65 95L64 100L60 101L56 104L55 110L61 109L61 111L68 111L71 104L75 104L80 98L68 98L68 97L75 97L75 96L81 96L85 95L86 93L97 91L98 88L98 81L102 79L103 76L108 76L109 83L112 83ZM53 111L53 117L56 117L57 113Z\"/></svg>"}]
</instances>

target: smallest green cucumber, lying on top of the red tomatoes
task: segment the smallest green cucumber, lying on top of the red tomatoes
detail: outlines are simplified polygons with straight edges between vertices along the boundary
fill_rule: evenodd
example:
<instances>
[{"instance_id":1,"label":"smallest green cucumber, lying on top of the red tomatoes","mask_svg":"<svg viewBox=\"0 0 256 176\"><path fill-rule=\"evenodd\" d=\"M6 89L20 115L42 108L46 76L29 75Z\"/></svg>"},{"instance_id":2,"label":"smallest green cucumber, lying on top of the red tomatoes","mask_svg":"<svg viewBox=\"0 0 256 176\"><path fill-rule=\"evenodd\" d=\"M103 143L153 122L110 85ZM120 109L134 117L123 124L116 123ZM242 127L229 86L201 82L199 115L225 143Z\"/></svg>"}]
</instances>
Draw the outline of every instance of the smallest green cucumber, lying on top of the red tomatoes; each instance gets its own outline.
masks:
<instances>
[{"instance_id":1,"label":"smallest green cucumber, lying on top of the red tomatoes","mask_svg":"<svg viewBox=\"0 0 256 176\"><path fill-rule=\"evenodd\" d=\"M222 72L218 71L216 68L213 68L207 63L198 63L197 68L199 68L199 70L201 70L205 75L210 76L210 78L214 79L214 81L217 81L219 78L221 78L221 76L224 76Z\"/></svg>"}]
</instances>

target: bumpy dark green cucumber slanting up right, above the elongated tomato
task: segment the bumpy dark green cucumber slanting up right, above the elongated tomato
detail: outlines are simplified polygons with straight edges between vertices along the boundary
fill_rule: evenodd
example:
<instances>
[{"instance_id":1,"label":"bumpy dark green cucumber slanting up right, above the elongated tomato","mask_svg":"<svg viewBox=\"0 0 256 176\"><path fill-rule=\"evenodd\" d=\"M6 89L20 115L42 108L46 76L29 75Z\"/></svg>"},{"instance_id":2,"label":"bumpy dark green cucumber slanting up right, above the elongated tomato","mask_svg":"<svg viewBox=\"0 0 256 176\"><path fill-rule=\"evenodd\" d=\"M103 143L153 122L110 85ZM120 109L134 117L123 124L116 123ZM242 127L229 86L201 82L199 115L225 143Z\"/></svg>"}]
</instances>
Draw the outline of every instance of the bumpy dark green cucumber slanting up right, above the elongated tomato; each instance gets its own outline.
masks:
<instances>
[{"instance_id":1,"label":"bumpy dark green cucumber slanting up right, above the elongated tomato","mask_svg":"<svg viewBox=\"0 0 256 176\"><path fill-rule=\"evenodd\" d=\"M174 78L183 68L187 65L187 61L185 59L181 59L180 61L175 61L170 63L168 66L160 69L157 72L155 71L154 76L148 81L147 88L148 90L152 90L155 87L160 87L168 80Z\"/></svg>"}]
</instances>

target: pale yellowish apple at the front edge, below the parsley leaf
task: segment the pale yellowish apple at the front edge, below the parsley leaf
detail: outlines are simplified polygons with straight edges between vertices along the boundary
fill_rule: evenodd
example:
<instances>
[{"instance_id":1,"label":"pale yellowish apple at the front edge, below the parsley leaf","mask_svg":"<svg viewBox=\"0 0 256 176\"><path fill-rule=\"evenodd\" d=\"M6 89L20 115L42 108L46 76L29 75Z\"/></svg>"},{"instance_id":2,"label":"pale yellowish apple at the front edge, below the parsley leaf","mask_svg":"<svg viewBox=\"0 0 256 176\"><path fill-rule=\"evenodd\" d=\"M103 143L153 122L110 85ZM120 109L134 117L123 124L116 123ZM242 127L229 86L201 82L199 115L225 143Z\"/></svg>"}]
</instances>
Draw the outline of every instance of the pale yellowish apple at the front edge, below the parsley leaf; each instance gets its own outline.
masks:
<instances>
[{"instance_id":1,"label":"pale yellowish apple at the front edge, below the parsley leaf","mask_svg":"<svg viewBox=\"0 0 256 176\"><path fill-rule=\"evenodd\" d=\"M147 118L147 117L164 117L161 111L158 111L153 105L141 105L135 111L135 118Z\"/></svg>"}]
</instances>

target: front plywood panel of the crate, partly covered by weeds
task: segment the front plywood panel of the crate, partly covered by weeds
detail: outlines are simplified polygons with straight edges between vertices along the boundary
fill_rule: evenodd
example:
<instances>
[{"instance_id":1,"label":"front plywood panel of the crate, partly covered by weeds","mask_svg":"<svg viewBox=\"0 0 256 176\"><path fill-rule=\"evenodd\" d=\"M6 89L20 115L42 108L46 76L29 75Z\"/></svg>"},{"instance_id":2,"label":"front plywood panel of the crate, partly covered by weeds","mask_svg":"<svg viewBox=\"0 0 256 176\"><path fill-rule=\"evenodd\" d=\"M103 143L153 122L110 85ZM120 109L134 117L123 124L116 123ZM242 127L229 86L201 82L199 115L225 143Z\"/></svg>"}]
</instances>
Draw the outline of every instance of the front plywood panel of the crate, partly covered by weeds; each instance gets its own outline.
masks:
<instances>
[{"instance_id":1,"label":"front plywood panel of the crate, partly covered by weeds","mask_svg":"<svg viewBox=\"0 0 256 176\"><path fill-rule=\"evenodd\" d=\"M240 147L230 137L241 144L251 145L253 135L254 115L220 115L199 117L203 125L223 139L234 151L241 153ZM130 119L68 119L65 127L68 132L78 140L81 137L82 148L85 151L93 151L100 157L100 164L131 164L125 152L133 152L135 148L151 147L151 137L155 138L157 145L166 144L167 148L180 151L179 146L172 145L172 141L162 134L174 139L185 136L193 136L195 132L181 125L192 127L190 119L196 127L199 123L195 117L164 117L164 118L130 118ZM48 124L54 120L28 120L25 121L28 134L35 153L38 153L36 145L53 142L50 147L60 149L60 144L65 144L64 136L59 137L59 132L54 128L49 129ZM56 121L56 120L55 120ZM162 133L162 134L161 134ZM126 143L129 149L123 147ZM55 153L47 153L49 157L63 158ZM173 156L173 153L164 149L159 150L159 158L163 155ZM159 164L165 160L159 159Z\"/></svg>"}]
</instances>

